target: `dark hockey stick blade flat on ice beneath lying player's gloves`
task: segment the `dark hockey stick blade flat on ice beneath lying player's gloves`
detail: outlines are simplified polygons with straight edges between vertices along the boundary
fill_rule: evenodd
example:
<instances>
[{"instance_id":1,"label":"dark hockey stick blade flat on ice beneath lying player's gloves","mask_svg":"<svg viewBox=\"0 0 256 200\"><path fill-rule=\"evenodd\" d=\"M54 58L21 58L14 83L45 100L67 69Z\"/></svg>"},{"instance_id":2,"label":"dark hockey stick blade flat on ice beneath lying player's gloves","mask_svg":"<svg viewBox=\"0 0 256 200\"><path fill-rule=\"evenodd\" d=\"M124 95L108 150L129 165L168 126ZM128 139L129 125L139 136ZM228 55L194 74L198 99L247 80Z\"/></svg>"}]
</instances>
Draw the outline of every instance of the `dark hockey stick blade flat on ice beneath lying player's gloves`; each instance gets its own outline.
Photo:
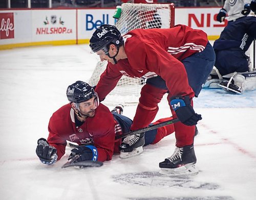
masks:
<instances>
[{"instance_id":1,"label":"dark hockey stick blade flat on ice beneath lying player's gloves","mask_svg":"<svg viewBox=\"0 0 256 200\"><path fill-rule=\"evenodd\" d=\"M100 167L100 166L103 165L103 162L92 161L92 160L85 160L85 161L75 162L79 157L80 157L80 155L74 156L74 158L71 158L68 162L63 164L61 168L76 166L76 167L79 167L81 169L81 168L84 168L84 167Z\"/></svg>"}]
</instances>

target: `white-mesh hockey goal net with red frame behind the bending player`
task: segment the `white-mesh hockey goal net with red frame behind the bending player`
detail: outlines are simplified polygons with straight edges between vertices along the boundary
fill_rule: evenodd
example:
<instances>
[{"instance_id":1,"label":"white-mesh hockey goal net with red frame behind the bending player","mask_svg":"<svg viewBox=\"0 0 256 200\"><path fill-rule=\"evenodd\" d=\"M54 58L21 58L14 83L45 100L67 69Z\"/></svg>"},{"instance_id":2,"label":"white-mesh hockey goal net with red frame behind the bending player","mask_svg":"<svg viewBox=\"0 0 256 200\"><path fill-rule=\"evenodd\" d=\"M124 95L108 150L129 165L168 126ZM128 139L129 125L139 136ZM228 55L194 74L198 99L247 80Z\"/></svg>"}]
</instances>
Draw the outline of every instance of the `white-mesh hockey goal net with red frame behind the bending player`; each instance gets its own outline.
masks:
<instances>
[{"instance_id":1,"label":"white-mesh hockey goal net with red frame behind the bending player","mask_svg":"<svg viewBox=\"0 0 256 200\"><path fill-rule=\"evenodd\" d=\"M134 29L166 29L174 26L174 4L122 4L122 12L115 26L122 35ZM98 62L89 84L97 85L107 61ZM122 76L117 86L104 100L105 104L134 105L139 102L140 90L144 79Z\"/></svg>"}]
</instances>

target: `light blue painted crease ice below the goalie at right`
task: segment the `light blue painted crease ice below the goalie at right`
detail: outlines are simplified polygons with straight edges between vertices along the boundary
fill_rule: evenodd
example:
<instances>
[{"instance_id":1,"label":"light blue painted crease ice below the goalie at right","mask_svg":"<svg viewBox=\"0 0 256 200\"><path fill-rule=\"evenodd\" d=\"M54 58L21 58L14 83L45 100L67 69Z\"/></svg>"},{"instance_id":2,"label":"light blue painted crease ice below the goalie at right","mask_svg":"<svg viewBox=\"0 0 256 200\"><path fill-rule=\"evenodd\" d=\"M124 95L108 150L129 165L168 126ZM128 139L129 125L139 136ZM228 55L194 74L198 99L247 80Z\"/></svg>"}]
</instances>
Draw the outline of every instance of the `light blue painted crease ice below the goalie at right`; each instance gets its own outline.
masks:
<instances>
[{"instance_id":1,"label":"light blue painted crease ice below the goalie at right","mask_svg":"<svg viewBox=\"0 0 256 200\"><path fill-rule=\"evenodd\" d=\"M202 89L193 101L195 108L255 108L256 90L230 94L223 89Z\"/></svg>"}]
</instances>

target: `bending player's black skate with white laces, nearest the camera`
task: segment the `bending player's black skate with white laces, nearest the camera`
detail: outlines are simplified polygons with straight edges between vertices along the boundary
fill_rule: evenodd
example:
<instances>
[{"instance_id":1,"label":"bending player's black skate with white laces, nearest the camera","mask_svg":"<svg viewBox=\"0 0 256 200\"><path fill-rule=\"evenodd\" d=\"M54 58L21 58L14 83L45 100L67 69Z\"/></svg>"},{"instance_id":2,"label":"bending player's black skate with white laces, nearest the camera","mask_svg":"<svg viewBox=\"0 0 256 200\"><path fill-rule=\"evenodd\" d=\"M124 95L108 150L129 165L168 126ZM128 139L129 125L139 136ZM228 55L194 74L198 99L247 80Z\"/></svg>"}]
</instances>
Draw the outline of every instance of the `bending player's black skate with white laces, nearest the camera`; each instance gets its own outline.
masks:
<instances>
[{"instance_id":1,"label":"bending player's black skate with white laces, nearest the camera","mask_svg":"<svg viewBox=\"0 0 256 200\"><path fill-rule=\"evenodd\" d=\"M196 175L199 170L195 167L197 158L194 145L176 147L174 154L159 163L160 173L165 176Z\"/></svg>"}]
</instances>

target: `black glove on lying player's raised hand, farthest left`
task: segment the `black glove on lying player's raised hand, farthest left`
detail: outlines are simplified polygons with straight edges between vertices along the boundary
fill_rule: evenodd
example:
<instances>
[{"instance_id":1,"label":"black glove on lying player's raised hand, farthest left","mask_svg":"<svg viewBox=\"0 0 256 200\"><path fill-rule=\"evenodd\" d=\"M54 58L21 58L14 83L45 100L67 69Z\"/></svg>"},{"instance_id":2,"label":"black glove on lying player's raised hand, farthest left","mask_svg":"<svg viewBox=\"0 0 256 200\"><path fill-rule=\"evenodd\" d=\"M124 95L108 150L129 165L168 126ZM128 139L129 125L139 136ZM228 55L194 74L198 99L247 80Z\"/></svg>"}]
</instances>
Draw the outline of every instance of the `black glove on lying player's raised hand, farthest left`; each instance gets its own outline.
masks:
<instances>
[{"instance_id":1,"label":"black glove on lying player's raised hand, farthest left","mask_svg":"<svg viewBox=\"0 0 256 200\"><path fill-rule=\"evenodd\" d=\"M57 149L50 146L45 138L37 140L37 147L35 151L40 161L44 164L51 165L57 161Z\"/></svg>"}]
</instances>

